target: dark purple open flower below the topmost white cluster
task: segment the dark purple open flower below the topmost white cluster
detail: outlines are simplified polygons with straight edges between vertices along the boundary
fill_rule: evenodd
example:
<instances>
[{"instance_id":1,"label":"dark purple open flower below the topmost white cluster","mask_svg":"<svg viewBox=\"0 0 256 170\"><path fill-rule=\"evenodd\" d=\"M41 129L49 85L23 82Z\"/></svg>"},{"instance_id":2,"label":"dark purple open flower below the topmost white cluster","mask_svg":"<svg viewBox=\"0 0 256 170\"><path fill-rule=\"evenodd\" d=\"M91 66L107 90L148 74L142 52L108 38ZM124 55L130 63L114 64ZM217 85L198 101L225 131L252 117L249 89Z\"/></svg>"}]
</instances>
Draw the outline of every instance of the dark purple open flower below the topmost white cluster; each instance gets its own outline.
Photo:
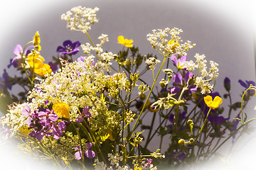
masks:
<instances>
[{"instance_id":1,"label":"dark purple open flower below the topmost white cluster","mask_svg":"<svg viewBox=\"0 0 256 170\"><path fill-rule=\"evenodd\" d=\"M60 52L60 55L75 55L79 52L79 47L81 44L79 41L72 42L71 40L65 40L63 42L63 47L58 46L57 52Z\"/></svg>"}]
</instances>

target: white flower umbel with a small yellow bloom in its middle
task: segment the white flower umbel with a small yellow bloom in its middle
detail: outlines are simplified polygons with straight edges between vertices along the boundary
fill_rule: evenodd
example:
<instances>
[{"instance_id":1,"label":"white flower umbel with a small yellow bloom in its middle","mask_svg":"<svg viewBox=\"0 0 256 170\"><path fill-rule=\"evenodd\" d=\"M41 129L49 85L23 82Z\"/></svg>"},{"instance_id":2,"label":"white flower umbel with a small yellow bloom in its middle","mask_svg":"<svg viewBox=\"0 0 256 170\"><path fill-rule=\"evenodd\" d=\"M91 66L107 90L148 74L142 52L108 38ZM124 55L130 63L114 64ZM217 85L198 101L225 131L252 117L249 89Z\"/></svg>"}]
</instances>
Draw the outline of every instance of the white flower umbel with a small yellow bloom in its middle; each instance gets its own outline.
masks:
<instances>
[{"instance_id":1,"label":"white flower umbel with a small yellow bloom in its middle","mask_svg":"<svg viewBox=\"0 0 256 170\"><path fill-rule=\"evenodd\" d=\"M152 31L153 33L146 35L148 37L147 40L149 40L154 49L158 50L165 57L169 55L186 55L186 51L195 46L190 41L183 44L180 43L182 40L178 35L182 32L181 29L165 28L164 30ZM169 35L171 35L171 38L167 38Z\"/></svg>"}]
</instances>

